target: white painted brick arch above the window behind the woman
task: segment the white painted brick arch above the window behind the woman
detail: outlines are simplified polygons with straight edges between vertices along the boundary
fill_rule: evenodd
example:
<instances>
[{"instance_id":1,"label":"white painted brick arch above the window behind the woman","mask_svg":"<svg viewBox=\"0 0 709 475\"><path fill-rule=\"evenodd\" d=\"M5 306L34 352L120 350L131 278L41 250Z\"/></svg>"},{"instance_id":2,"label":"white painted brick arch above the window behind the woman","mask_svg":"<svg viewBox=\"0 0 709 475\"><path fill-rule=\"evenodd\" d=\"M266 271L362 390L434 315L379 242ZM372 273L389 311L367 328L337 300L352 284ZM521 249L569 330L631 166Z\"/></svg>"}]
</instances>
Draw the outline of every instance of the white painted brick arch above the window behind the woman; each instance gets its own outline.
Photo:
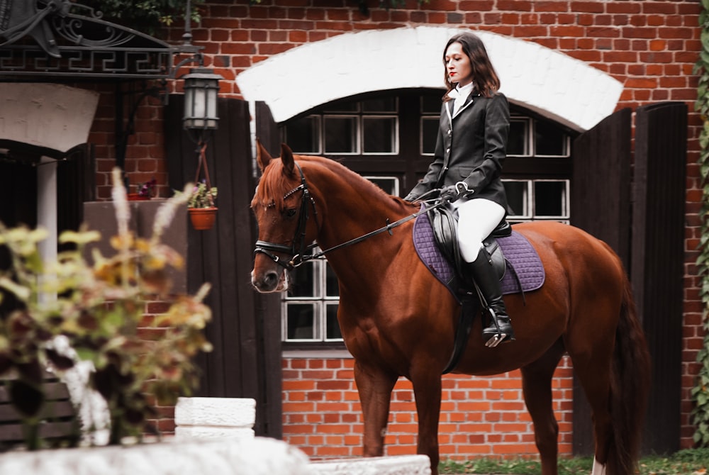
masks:
<instances>
[{"instance_id":1,"label":"white painted brick arch above the window behind the woman","mask_svg":"<svg viewBox=\"0 0 709 475\"><path fill-rule=\"evenodd\" d=\"M371 91L443 87L442 48L459 28L366 30L308 43L236 78L247 101L282 122L335 99ZM547 47L486 31L485 43L510 102L583 131L615 111L623 84Z\"/></svg>"}]
</instances>

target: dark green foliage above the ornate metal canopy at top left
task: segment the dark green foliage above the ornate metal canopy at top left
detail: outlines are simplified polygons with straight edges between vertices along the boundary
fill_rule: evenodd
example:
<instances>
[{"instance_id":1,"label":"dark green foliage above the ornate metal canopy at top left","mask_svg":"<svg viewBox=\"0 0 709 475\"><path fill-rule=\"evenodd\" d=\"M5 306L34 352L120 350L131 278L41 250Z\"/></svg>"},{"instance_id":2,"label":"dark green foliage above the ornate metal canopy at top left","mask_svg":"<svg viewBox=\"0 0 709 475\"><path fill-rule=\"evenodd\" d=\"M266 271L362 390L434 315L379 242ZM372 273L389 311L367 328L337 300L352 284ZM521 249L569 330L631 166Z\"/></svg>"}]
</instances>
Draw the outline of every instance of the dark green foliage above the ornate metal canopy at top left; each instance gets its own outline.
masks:
<instances>
[{"instance_id":1,"label":"dark green foliage above the ornate metal canopy at top left","mask_svg":"<svg viewBox=\"0 0 709 475\"><path fill-rule=\"evenodd\" d=\"M199 22L199 4L204 0L192 0L191 19ZM184 18L184 0L93 0L86 1L94 11L100 11L103 19L133 28L141 33L156 35L164 26Z\"/></svg>"}]
</instances>

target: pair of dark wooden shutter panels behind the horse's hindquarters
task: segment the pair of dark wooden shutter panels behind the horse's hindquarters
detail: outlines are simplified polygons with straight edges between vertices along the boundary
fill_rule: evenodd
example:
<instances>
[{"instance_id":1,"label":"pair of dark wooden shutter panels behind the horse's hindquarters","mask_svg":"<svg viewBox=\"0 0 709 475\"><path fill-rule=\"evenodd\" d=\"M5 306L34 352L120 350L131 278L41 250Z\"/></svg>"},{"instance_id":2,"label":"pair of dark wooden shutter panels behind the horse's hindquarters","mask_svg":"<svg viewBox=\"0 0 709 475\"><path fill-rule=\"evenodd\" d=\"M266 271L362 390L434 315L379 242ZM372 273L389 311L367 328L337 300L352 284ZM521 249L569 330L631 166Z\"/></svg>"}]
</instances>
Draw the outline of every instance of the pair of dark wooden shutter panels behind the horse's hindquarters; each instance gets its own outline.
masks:
<instances>
[{"instance_id":1,"label":"pair of dark wooden shutter panels behind the horse's hindquarters","mask_svg":"<svg viewBox=\"0 0 709 475\"><path fill-rule=\"evenodd\" d=\"M671 453L679 449L687 108L637 109L632 181L630 120L623 109L574 141L571 216L623 259L652 357L642 451ZM574 454L593 453L590 409L576 383L573 443Z\"/></svg>"}]
</instances>

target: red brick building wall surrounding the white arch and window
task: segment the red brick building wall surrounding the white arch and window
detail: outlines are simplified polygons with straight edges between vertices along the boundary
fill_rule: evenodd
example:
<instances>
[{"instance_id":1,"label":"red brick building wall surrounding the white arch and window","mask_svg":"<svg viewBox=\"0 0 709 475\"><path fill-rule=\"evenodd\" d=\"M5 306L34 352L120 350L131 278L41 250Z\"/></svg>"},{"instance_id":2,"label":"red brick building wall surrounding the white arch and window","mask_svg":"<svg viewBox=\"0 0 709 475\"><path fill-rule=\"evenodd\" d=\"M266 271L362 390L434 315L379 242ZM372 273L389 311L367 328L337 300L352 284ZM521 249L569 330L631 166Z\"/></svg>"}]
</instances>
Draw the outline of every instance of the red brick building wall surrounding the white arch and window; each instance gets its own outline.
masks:
<instances>
[{"instance_id":1,"label":"red brick building wall surrounding the white arch and window","mask_svg":"<svg viewBox=\"0 0 709 475\"><path fill-rule=\"evenodd\" d=\"M225 96L240 96L233 79L248 67L298 45L329 38L333 35L365 29L388 29L406 26L450 26L489 30L502 35L533 41L562 52L597 67L625 84L618 108L651 104L656 101L683 101L692 110L696 99L697 77L693 64L700 50L698 12L696 0L619 0L619 1L574 1L574 0L431 0L423 6L408 0L404 8L386 11L369 1L371 15L362 16L353 2L344 0L262 0L261 4L249 5L247 0L206 0L203 21L194 27L194 43L206 47L207 64L228 79L222 83ZM172 40L179 42L182 30L176 26ZM345 52L343 52L344 54ZM318 58L313 58L318 60ZM303 65L306 67L306 65ZM174 85L171 85L174 87ZM114 141L112 97L107 91L101 99L91 140L98 143L99 196L108 196L108 169L113 166L113 148L106 144ZM140 133L133 135L128 147L126 169L132 183L156 177L162 185L160 196L169 191L164 184L164 152L166 138L160 125L162 108L153 101L138 111L135 128ZM681 446L692 445L693 427L690 424L693 375L698 371L696 354L702 345L702 303L698 298L698 278L693 262L700 238L700 178L697 160L699 153L698 130L701 126L696 113L690 113L688 130L687 204L686 204L686 277L684 308L683 386ZM167 138L169 140L169 138ZM320 365L320 367L318 367ZM286 359L284 381L284 429L289 442L310 451L316 456L328 455L328 451L342 450L357 454L359 450L359 411L357 397L352 388L351 362L347 359ZM337 379L324 378L323 374L337 371ZM560 369L566 378L566 371ZM318 376L320 375L320 376ZM325 382L332 381L342 387L324 390ZM471 382L473 381L473 382ZM486 388L469 387L467 384L489 383ZM476 420L458 420L472 417L472 412L450 410L452 406L471 403L485 406L492 401L502 404L502 391L495 384L502 379L469 379L447 376L451 387L447 408L442 416L441 442L445 454L463 452L469 446L472 431L464 430L466 424L483 424ZM461 386L462 384L462 386ZM567 386L568 384L568 386ZM303 393L303 387L308 388ZM570 383L559 380L558 391L569 391ZM321 390L322 389L322 390ZM469 391L469 400L455 397ZM454 396L455 395L455 396ZM498 399L489 399L489 396ZM395 401L403 407L411 405L411 390L403 382L397 386ZM484 397L479 397L484 396ZM311 398L321 398L313 401ZM301 401L298 401L301 398ZM321 405L345 409L322 410ZM518 403L521 405L521 403ZM564 425L570 422L570 404L562 401L559 419ZM320 410L316 410L320 408ZM492 412L496 413L495 411ZM329 415L328 415L329 414ZM338 420L334 420L339 417ZM389 437L396 438L390 451L413 450L411 428L413 422L408 410L393 414L395 420ZM523 413L511 423L526 424ZM320 420L322 418L322 420ZM325 420L328 418L328 420ZM400 418L400 419L397 419ZM329 420L333 419L333 420ZM346 420L345 420L346 419ZM488 421L493 425L492 421ZM318 423L318 431L313 431ZM323 432L331 430L333 432ZM311 430L311 432L308 432ZM459 431L459 432L458 432ZM490 435L493 437L493 430ZM500 431L501 433L501 431ZM523 431L519 442L510 442L504 447L518 447L523 453L533 453L530 432ZM566 434L567 432L564 431ZM510 437L511 435L504 435ZM502 435L501 435L502 437ZM569 452L569 440L562 436L562 450ZM496 442L484 440L482 442ZM455 444L455 447L451 447ZM477 449L493 450L491 445L478 445ZM457 452L460 451L460 452ZM391 452L390 452L391 453Z\"/></svg>"}]
</instances>

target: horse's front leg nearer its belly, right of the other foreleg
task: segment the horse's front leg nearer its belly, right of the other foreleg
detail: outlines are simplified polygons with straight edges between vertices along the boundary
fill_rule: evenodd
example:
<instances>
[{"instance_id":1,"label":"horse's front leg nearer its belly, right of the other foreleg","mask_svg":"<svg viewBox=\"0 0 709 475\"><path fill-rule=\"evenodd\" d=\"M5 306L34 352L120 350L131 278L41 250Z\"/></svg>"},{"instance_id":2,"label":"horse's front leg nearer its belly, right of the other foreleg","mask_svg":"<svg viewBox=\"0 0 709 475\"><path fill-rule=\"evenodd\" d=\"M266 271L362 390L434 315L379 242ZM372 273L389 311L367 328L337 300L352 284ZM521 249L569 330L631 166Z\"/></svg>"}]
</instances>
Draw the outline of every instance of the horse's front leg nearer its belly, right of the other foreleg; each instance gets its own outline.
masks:
<instances>
[{"instance_id":1,"label":"horse's front leg nearer its belly, right of the other foreleg","mask_svg":"<svg viewBox=\"0 0 709 475\"><path fill-rule=\"evenodd\" d=\"M438 420L441 409L441 376L439 372L413 374L411 377L413 393L416 398L418 413L418 448L419 454L428 455L431 461L431 474L438 474Z\"/></svg>"}]
</instances>

